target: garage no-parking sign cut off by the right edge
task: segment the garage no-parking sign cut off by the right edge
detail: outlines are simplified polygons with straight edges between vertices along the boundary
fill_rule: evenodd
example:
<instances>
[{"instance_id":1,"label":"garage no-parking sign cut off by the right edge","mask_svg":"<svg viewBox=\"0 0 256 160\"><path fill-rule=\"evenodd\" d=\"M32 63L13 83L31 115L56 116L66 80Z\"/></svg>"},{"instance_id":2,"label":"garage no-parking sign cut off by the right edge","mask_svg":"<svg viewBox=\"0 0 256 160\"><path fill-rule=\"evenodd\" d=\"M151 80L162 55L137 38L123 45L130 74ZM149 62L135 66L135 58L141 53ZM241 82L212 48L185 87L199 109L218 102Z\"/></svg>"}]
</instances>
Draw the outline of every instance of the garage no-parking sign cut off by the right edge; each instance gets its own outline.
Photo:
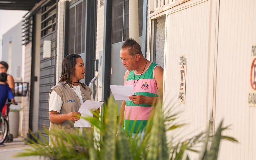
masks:
<instances>
[{"instance_id":1,"label":"garage no-parking sign cut off by the right edge","mask_svg":"<svg viewBox=\"0 0 256 160\"><path fill-rule=\"evenodd\" d=\"M256 44L252 45L248 104L256 106Z\"/></svg>"}]
</instances>

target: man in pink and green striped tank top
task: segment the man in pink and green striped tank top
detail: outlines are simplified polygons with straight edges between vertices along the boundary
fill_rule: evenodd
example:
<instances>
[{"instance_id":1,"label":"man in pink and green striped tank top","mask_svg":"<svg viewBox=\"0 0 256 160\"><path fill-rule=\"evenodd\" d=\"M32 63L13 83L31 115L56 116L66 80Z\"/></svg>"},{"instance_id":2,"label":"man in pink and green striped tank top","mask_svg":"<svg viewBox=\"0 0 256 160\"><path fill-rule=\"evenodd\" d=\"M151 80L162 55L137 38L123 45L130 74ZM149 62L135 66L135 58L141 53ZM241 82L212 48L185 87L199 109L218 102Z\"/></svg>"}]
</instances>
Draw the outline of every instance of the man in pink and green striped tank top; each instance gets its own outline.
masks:
<instances>
[{"instance_id":1,"label":"man in pink and green striped tank top","mask_svg":"<svg viewBox=\"0 0 256 160\"><path fill-rule=\"evenodd\" d=\"M120 116L124 119L124 130L144 132L155 98L162 97L163 68L147 60L134 39L122 44L120 58L127 69L124 85L132 85L135 93L129 96L130 100L122 102Z\"/></svg>"}]
</instances>

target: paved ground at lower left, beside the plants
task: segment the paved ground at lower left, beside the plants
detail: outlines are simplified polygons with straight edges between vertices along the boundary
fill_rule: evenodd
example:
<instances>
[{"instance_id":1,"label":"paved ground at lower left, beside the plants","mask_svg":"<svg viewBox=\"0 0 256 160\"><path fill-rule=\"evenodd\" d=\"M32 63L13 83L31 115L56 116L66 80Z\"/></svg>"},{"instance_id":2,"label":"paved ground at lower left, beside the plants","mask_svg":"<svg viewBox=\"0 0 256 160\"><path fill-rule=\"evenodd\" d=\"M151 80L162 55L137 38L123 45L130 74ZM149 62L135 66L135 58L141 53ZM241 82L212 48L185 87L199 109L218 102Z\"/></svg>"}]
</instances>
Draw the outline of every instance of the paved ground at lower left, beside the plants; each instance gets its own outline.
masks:
<instances>
[{"instance_id":1,"label":"paved ground at lower left, beside the plants","mask_svg":"<svg viewBox=\"0 0 256 160\"><path fill-rule=\"evenodd\" d=\"M21 137L14 138L13 142L4 143L4 147L0 147L0 160L42 160L39 156L13 157L15 154L22 152L25 148L31 148L26 145Z\"/></svg>"}]
</instances>

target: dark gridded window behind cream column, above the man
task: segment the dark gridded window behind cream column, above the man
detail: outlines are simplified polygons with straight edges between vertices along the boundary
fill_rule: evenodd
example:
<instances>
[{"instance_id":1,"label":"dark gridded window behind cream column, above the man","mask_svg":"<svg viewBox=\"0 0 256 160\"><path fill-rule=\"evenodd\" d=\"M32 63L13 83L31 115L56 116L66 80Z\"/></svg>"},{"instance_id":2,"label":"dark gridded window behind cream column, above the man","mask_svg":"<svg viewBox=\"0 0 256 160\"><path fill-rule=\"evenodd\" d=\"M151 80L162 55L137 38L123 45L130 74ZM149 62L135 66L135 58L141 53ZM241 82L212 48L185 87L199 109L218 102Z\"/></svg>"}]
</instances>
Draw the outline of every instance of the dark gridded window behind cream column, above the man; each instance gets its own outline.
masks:
<instances>
[{"instance_id":1,"label":"dark gridded window behind cream column, above the man","mask_svg":"<svg viewBox=\"0 0 256 160\"><path fill-rule=\"evenodd\" d=\"M143 0L139 5L139 36L142 36ZM129 38L129 0L113 0L112 12L112 44Z\"/></svg>"}]
</instances>

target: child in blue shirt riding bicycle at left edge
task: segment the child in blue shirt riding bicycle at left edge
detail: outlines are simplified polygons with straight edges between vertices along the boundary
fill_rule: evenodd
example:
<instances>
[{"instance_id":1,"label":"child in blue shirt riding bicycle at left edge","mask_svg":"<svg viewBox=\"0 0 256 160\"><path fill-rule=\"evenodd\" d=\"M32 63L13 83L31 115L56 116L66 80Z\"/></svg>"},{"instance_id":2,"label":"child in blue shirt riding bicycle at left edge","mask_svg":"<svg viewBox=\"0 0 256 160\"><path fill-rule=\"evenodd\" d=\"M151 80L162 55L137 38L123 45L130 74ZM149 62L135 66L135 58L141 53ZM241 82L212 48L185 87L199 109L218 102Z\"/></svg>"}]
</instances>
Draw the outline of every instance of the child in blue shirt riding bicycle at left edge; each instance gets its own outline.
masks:
<instances>
[{"instance_id":1,"label":"child in blue shirt riding bicycle at left edge","mask_svg":"<svg viewBox=\"0 0 256 160\"><path fill-rule=\"evenodd\" d=\"M5 82L7 80L6 73L0 73L0 114L2 114L2 109L5 105L7 99L11 100L12 104L17 104L14 100L14 95L10 87L8 87ZM3 143L0 144L0 147L4 146Z\"/></svg>"}]
</instances>

